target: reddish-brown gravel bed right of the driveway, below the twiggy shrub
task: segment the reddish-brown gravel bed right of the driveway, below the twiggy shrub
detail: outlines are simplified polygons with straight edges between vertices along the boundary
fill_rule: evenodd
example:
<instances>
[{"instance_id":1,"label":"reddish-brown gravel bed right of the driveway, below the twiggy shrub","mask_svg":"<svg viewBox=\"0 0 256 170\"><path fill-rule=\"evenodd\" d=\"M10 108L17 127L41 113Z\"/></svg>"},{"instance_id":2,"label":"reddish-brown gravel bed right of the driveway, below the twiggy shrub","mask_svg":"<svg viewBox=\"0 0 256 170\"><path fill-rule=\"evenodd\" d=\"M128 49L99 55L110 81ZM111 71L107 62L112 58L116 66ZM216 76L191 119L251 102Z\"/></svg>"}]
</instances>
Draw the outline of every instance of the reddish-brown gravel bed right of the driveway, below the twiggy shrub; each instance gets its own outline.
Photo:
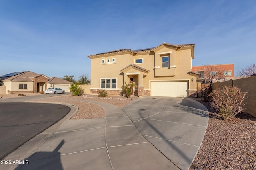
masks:
<instances>
[{"instance_id":1,"label":"reddish-brown gravel bed right of the driveway, below the twiggy shrub","mask_svg":"<svg viewBox=\"0 0 256 170\"><path fill-rule=\"evenodd\" d=\"M255 170L256 118L246 113L224 121L209 102L198 100L210 112L202 145L190 170Z\"/></svg>"}]
</instances>

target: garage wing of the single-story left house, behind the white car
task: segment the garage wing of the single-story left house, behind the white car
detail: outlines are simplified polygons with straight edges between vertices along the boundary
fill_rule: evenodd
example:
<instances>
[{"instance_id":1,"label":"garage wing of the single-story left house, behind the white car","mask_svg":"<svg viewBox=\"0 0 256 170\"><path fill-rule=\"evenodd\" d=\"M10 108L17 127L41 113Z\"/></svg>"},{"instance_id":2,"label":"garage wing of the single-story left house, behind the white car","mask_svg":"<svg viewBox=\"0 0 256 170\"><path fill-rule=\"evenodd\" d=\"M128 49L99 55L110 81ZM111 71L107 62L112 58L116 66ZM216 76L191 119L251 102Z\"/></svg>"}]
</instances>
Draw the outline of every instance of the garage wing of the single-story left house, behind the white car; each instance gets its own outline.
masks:
<instances>
[{"instance_id":1,"label":"garage wing of the single-story left house, behind the white car","mask_svg":"<svg viewBox=\"0 0 256 170\"><path fill-rule=\"evenodd\" d=\"M46 84L47 84L47 88L58 87L58 88L61 88L62 90L65 90L65 92L70 92L69 88L70 88L70 85L73 84L73 82L63 80L58 77L52 77L52 78L49 78L49 81L46 82Z\"/></svg>"}]
</instances>

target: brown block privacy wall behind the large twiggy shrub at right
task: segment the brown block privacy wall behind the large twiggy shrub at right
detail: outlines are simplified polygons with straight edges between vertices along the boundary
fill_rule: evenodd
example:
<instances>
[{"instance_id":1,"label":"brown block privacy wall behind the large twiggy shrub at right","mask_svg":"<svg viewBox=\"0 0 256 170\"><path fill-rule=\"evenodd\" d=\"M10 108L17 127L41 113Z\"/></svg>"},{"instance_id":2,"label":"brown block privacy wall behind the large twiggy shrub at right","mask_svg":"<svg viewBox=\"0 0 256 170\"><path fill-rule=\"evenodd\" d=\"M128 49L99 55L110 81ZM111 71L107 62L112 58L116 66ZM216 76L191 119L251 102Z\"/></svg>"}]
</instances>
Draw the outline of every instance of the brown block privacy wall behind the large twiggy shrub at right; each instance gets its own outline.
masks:
<instances>
[{"instance_id":1,"label":"brown block privacy wall behind the large twiggy shrub at right","mask_svg":"<svg viewBox=\"0 0 256 170\"><path fill-rule=\"evenodd\" d=\"M242 92L247 92L248 98L246 99L246 113L256 117L256 76L248 78L241 78L237 80L230 80L226 82L218 82L213 84L213 90L221 88L222 86L237 86Z\"/></svg>"}]
</instances>

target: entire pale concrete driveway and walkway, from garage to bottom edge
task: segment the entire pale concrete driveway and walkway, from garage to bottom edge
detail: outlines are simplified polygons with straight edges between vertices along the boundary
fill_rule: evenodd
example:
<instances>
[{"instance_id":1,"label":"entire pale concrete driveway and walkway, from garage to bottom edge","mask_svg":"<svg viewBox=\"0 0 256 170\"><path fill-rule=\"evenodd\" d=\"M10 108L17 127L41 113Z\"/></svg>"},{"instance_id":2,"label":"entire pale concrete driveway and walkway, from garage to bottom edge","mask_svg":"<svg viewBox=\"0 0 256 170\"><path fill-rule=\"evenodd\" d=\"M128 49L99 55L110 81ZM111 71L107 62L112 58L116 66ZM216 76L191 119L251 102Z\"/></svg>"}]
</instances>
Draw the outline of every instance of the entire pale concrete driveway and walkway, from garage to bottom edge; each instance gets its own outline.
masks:
<instances>
[{"instance_id":1,"label":"entire pale concrete driveway and walkway, from garage to bottom edge","mask_svg":"<svg viewBox=\"0 0 256 170\"><path fill-rule=\"evenodd\" d=\"M71 120L77 110L70 112L4 158L29 164L0 169L187 170L208 124L207 109L189 98L144 97L123 109L86 102L106 118Z\"/></svg>"}]
</instances>

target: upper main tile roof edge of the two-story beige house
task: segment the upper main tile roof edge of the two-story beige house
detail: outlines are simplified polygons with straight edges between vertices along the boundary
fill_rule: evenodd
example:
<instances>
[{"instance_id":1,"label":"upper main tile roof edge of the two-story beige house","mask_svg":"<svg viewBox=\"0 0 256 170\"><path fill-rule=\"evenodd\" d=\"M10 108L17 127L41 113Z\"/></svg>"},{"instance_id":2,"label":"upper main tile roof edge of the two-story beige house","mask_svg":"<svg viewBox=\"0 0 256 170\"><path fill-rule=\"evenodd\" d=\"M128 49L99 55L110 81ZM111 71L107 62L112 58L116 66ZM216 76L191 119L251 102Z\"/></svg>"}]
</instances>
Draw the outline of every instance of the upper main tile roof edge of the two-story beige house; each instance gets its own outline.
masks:
<instances>
[{"instance_id":1,"label":"upper main tile roof edge of the two-story beige house","mask_svg":"<svg viewBox=\"0 0 256 170\"><path fill-rule=\"evenodd\" d=\"M113 50L113 51L107 51L107 52L104 52L104 53L98 53L98 54L94 54L94 55L89 55L88 57L94 57L94 56L100 56L100 55L105 55L105 54L114 54L114 53L122 53L122 52L126 52L126 51L130 51L131 53L143 53L143 52L150 52L158 47L160 47L161 45L171 45L171 46L174 46L174 47L177 47L177 48L180 48L180 47L189 47L189 46L194 46L195 44L180 44L180 45L174 45L174 44L169 44L169 43L162 43L160 45L158 45L157 47L152 47L152 48L146 48L146 49L138 49L138 50L131 50L131 49L116 49L116 50Z\"/></svg>"}]
</instances>

